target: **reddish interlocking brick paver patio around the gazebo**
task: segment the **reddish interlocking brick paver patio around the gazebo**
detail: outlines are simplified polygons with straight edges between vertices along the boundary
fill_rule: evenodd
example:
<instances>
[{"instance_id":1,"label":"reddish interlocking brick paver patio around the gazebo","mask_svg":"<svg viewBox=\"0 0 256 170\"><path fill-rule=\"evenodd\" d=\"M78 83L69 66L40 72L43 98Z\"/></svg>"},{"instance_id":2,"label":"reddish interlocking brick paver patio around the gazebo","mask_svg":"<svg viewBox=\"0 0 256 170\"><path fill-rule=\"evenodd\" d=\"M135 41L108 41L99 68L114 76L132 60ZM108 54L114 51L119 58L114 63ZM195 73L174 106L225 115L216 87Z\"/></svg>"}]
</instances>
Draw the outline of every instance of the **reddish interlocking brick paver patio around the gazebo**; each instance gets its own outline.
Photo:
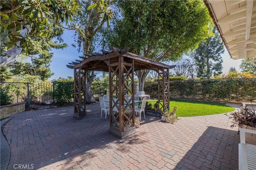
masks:
<instances>
[{"instance_id":1,"label":"reddish interlocking brick paver patio around the gazebo","mask_svg":"<svg viewBox=\"0 0 256 170\"><path fill-rule=\"evenodd\" d=\"M74 107L25 111L3 127L11 148L7 169L238 169L237 127L224 114L180 117L176 124L146 115L136 133L108 133L100 105L87 105L78 121ZM2 142L2 141L1 141Z\"/></svg>"}]
</instances>

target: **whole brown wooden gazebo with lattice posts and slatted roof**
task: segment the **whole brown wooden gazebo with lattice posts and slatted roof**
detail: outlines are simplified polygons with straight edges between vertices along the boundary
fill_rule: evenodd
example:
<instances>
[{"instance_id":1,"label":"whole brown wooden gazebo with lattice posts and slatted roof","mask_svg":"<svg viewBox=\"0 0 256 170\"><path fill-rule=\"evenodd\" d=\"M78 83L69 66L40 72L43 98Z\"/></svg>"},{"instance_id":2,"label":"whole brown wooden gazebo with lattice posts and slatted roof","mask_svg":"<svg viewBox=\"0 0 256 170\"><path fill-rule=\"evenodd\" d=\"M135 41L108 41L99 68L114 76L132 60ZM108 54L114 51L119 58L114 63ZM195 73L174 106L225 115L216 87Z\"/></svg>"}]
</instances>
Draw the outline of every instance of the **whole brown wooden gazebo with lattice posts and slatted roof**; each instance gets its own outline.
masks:
<instances>
[{"instance_id":1,"label":"whole brown wooden gazebo with lattice posts and slatted roof","mask_svg":"<svg viewBox=\"0 0 256 170\"><path fill-rule=\"evenodd\" d=\"M169 71L175 65L166 65L128 52L111 48L112 51L86 54L68 68L74 69L74 118L86 115L86 72L89 70L109 72L110 127L109 132L124 138L136 132L134 127L134 71L152 69L158 73L159 108L169 112ZM125 96L129 95L130 98Z\"/></svg>"}]
</instances>

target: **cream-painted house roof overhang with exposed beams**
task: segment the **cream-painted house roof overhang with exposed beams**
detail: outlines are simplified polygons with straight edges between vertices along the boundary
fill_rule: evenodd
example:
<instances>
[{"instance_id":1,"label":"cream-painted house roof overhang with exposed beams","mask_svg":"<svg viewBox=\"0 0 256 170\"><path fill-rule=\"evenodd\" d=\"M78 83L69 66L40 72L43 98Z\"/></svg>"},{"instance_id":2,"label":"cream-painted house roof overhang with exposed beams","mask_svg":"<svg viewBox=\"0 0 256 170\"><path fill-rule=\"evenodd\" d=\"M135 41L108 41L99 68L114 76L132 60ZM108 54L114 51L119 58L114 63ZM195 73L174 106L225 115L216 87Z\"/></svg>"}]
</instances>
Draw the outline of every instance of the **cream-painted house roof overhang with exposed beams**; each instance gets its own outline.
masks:
<instances>
[{"instance_id":1,"label":"cream-painted house roof overhang with exposed beams","mask_svg":"<svg viewBox=\"0 0 256 170\"><path fill-rule=\"evenodd\" d=\"M256 60L256 1L204 0L232 59Z\"/></svg>"}]
</instances>

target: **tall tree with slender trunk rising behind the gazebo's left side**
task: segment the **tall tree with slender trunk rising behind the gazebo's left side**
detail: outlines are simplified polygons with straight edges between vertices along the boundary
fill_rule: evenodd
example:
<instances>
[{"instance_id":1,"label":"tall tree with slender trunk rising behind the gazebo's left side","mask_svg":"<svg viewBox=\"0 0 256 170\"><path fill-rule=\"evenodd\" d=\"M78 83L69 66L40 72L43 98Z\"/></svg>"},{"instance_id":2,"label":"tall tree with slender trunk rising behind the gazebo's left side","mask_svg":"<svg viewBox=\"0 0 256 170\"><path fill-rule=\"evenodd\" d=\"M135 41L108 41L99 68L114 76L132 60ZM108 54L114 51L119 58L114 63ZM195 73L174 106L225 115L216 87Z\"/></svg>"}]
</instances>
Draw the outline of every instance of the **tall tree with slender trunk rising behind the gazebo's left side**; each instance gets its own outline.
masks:
<instances>
[{"instance_id":1,"label":"tall tree with slender trunk rising behind the gazebo's left side","mask_svg":"<svg viewBox=\"0 0 256 170\"><path fill-rule=\"evenodd\" d=\"M75 21L80 24L80 28L86 34L84 37L77 34L76 42L78 43L78 51L83 51L83 56L86 57L86 54L89 54L94 49L94 36L102 28L103 24L105 22L108 24L108 21L112 18L112 11L108 7L107 2L103 2L104 8L102 8L102 4L93 4L93 1L81 1L80 3L82 5L82 12L79 13ZM96 6L98 8L93 8ZM95 102L91 90L92 81L95 77L95 71L88 71L86 73L86 103Z\"/></svg>"}]
</instances>

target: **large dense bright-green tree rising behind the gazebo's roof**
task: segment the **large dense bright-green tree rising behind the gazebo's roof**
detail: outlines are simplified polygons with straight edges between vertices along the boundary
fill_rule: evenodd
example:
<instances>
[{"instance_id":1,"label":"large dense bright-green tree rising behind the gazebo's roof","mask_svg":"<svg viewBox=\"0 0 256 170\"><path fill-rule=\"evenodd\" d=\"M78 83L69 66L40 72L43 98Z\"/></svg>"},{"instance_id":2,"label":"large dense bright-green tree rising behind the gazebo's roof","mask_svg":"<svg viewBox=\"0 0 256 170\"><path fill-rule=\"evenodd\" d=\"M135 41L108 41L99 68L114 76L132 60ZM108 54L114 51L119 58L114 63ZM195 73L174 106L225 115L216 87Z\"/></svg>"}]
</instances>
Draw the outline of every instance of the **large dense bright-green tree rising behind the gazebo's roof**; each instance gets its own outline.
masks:
<instances>
[{"instance_id":1,"label":"large dense bright-green tree rising behind the gazebo's roof","mask_svg":"<svg viewBox=\"0 0 256 170\"><path fill-rule=\"evenodd\" d=\"M211 35L211 18L202 1L118 1L122 16L106 31L109 47L156 61L177 61ZM148 70L136 71L143 91Z\"/></svg>"}]
</instances>

